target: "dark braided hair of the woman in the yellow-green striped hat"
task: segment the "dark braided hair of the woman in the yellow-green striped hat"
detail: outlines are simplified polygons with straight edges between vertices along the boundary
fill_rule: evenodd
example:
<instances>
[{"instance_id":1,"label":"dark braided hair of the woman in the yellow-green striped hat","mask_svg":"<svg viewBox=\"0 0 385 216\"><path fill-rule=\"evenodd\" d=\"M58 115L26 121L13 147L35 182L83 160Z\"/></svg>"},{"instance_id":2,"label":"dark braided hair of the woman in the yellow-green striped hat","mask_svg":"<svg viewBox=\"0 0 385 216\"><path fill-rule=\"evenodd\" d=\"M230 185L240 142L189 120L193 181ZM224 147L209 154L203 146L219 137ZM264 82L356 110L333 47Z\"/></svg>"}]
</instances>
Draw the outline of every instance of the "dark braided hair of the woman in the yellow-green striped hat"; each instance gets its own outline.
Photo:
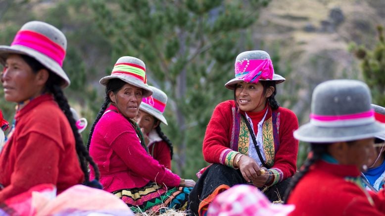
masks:
<instances>
[{"instance_id":1,"label":"dark braided hair of the woman in the yellow-green striped hat","mask_svg":"<svg viewBox=\"0 0 385 216\"><path fill-rule=\"evenodd\" d=\"M91 138L94 134L94 129L97 124L97 122L100 120L101 116L103 115L105 109L108 107L108 105L111 103L111 99L109 96L110 92L113 92L114 94L118 93L119 90L126 84L121 79L111 79L108 81L107 86L105 87L105 96L104 96L104 103L101 105L101 108L99 112L96 115L95 122L91 127L90 134L88 135L88 141L87 141L87 149L90 149L91 144Z\"/></svg>"}]
</instances>

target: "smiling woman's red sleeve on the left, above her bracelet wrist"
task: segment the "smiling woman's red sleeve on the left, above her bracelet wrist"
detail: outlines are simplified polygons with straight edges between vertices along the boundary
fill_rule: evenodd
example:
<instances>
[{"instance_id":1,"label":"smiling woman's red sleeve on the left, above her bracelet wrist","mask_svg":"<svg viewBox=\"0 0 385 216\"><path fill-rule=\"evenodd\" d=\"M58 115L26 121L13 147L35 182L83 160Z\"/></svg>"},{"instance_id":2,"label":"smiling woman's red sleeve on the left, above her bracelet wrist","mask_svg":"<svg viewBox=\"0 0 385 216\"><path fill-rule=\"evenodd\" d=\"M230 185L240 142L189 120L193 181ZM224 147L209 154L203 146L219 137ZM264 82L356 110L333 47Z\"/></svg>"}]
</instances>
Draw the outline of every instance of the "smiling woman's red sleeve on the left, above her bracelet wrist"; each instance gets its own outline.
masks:
<instances>
[{"instance_id":1,"label":"smiling woman's red sleeve on the left, above her bracelet wrist","mask_svg":"<svg viewBox=\"0 0 385 216\"><path fill-rule=\"evenodd\" d=\"M217 105L207 125L203 139L203 158L209 163L221 163L224 153L232 151L229 130L232 121L232 104L225 101Z\"/></svg>"}]
</instances>

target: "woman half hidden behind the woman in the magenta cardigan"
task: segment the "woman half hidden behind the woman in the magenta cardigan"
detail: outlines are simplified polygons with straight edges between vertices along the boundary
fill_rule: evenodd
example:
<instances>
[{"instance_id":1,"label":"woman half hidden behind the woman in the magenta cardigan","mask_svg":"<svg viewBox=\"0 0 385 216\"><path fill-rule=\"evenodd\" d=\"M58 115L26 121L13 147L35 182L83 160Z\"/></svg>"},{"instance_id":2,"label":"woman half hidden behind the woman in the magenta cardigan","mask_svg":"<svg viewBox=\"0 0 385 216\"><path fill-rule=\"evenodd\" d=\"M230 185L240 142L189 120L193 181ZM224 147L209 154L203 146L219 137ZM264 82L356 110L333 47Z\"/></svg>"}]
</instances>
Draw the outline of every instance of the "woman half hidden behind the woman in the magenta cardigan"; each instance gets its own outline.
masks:
<instances>
[{"instance_id":1,"label":"woman half hidden behind the woman in the magenta cardigan","mask_svg":"<svg viewBox=\"0 0 385 216\"><path fill-rule=\"evenodd\" d=\"M167 104L167 95L155 87L149 86L149 88L153 92L152 96L143 98L135 120L139 127L141 127L144 141L151 156L171 170L173 147L171 141L160 128L161 122L167 125L167 120L163 116L163 111Z\"/></svg>"}]
</instances>

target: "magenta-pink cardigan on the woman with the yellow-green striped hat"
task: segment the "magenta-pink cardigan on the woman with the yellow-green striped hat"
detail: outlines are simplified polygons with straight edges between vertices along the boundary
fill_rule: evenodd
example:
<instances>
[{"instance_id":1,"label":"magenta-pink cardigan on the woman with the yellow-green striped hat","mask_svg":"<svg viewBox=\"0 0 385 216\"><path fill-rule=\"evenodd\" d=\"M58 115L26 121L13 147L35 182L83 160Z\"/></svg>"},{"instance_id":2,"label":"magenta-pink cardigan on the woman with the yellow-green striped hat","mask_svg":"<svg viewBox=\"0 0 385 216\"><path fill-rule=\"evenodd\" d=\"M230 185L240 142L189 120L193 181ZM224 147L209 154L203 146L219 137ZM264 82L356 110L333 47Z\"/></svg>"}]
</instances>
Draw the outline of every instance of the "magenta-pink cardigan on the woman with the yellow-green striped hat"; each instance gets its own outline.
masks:
<instances>
[{"instance_id":1,"label":"magenta-pink cardigan on the woman with the yellow-green striped hat","mask_svg":"<svg viewBox=\"0 0 385 216\"><path fill-rule=\"evenodd\" d=\"M90 155L99 167L103 189L114 192L141 188L149 181L178 186L180 177L145 151L134 127L117 112L118 109L110 105L97 122L91 138ZM93 169L91 176L95 176Z\"/></svg>"}]
</instances>

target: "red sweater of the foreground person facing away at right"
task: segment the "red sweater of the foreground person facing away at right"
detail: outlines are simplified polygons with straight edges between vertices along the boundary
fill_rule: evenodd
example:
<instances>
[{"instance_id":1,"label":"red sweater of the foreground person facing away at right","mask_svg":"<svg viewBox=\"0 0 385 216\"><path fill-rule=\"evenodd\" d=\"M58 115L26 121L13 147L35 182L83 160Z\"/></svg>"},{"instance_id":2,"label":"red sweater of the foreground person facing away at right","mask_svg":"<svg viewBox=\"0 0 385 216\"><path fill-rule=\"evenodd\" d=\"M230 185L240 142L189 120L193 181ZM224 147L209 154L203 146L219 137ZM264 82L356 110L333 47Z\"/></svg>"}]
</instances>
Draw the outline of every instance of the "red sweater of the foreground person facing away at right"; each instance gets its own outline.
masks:
<instances>
[{"instance_id":1,"label":"red sweater of the foreground person facing away at right","mask_svg":"<svg viewBox=\"0 0 385 216\"><path fill-rule=\"evenodd\" d=\"M384 216L384 189L370 192L368 199L360 182L346 180L349 176L360 179L356 166L324 161L312 165L289 196L288 204L295 205L290 216Z\"/></svg>"}]
</instances>

